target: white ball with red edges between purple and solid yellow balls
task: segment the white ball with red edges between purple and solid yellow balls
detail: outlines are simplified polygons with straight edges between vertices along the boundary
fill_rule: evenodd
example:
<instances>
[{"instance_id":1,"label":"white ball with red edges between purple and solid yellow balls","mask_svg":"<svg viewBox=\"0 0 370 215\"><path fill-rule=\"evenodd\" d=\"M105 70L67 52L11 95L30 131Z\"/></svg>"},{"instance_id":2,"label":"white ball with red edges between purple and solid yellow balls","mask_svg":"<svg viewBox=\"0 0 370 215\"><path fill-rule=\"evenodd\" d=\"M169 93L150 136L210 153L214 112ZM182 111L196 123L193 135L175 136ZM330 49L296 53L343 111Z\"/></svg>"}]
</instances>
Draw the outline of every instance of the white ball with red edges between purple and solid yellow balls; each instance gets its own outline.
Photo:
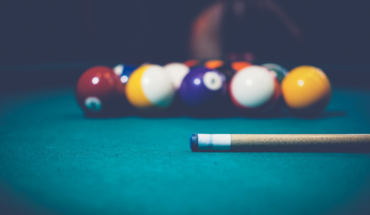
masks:
<instances>
[{"instance_id":1,"label":"white ball with red edges between purple and solid yellow balls","mask_svg":"<svg viewBox=\"0 0 370 215\"><path fill-rule=\"evenodd\" d=\"M272 71L253 65L235 73L229 92L235 106L252 111L266 111L279 98L280 86Z\"/></svg>"}]
</instances>

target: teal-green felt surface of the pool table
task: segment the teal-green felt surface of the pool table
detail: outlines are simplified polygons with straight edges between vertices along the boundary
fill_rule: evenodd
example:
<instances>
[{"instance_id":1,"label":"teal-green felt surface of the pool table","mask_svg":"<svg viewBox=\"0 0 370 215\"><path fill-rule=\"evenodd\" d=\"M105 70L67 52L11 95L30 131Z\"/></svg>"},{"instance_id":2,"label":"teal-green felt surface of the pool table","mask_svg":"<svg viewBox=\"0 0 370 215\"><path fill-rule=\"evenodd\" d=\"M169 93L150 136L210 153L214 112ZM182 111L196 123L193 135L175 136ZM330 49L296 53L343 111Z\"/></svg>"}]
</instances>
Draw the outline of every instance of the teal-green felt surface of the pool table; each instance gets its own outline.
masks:
<instances>
[{"instance_id":1,"label":"teal-green felt surface of the pool table","mask_svg":"<svg viewBox=\"0 0 370 215\"><path fill-rule=\"evenodd\" d=\"M370 212L369 153L189 149L191 133L370 133L368 91L334 90L319 119L85 119L71 89L0 102L1 183L49 212Z\"/></svg>"}]
</instances>

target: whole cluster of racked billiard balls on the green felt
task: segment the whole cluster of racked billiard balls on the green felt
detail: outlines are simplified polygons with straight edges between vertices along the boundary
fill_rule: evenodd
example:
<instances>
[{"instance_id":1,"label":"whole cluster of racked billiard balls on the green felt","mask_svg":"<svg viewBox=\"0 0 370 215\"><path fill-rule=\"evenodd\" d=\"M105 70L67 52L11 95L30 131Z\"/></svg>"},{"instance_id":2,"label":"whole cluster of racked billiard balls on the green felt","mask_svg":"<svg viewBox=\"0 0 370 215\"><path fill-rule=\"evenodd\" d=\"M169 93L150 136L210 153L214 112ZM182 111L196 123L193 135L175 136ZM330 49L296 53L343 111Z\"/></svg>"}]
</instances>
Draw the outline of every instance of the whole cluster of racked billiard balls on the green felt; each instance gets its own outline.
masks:
<instances>
[{"instance_id":1,"label":"whole cluster of racked billiard balls on the green felt","mask_svg":"<svg viewBox=\"0 0 370 215\"><path fill-rule=\"evenodd\" d=\"M110 115L130 107L221 114L225 104L230 104L226 105L230 112L235 111L233 105L242 113L254 114L279 110L277 103L285 103L295 114L313 116L328 105L331 88L325 73L313 66L288 72L273 63L188 60L164 66L92 67L78 80L75 95L88 116Z\"/></svg>"}]
</instances>

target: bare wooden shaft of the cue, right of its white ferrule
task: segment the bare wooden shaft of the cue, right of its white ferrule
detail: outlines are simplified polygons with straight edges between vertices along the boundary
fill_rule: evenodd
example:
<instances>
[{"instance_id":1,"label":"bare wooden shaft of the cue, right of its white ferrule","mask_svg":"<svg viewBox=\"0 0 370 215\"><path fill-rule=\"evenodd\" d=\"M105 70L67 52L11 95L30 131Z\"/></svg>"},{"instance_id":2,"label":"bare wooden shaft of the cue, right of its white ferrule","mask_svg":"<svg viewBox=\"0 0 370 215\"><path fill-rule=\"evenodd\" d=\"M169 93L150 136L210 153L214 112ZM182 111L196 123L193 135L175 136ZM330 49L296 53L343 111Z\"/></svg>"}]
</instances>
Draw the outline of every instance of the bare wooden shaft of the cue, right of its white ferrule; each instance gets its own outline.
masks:
<instances>
[{"instance_id":1,"label":"bare wooden shaft of the cue, right of its white ferrule","mask_svg":"<svg viewBox=\"0 0 370 215\"><path fill-rule=\"evenodd\" d=\"M369 152L370 134L231 134L231 151Z\"/></svg>"}]
</instances>

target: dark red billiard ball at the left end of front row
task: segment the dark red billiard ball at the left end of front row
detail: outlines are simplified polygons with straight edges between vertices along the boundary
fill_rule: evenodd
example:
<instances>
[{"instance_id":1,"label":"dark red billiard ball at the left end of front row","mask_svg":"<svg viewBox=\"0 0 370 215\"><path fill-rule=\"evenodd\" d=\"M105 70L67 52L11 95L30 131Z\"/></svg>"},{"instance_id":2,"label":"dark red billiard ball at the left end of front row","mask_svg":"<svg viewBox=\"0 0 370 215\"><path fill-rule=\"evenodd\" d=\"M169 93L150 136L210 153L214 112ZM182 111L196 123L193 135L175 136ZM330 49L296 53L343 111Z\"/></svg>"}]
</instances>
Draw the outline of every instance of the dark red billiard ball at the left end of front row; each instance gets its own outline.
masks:
<instances>
[{"instance_id":1,"label":"dark red billiard ball at the left end of front row","mask_svg":"<svg viewBox=\"0 0 370 215\"><path fill-rule=\"evenodd\" d=\"M125 103L124 85L110 67L92 67L78 79L75 96L86 115L111 114Z\"/></svg>"}]
</instances>

